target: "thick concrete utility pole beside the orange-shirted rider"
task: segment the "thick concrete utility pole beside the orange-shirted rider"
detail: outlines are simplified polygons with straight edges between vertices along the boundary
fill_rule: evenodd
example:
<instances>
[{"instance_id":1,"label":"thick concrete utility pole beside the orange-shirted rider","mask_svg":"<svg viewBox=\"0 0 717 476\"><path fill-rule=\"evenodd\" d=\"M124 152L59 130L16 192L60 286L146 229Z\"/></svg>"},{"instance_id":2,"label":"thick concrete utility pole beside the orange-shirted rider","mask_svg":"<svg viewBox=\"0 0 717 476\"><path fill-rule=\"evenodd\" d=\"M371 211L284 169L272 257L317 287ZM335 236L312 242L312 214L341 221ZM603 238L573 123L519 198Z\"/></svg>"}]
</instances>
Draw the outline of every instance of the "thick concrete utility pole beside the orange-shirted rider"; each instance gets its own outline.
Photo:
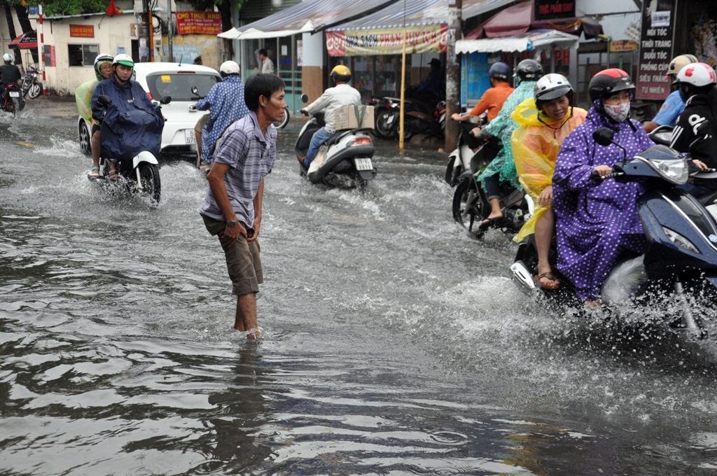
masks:
<instances>
[{"instance_id":1,"label":"thick concrete utility pole beside the orange-shirted rider","mask_svg":"<svg viewBox=\"0 0 717 476\"><path fill-rule=\"evenodd\" d=\"M455 54L455 42L463 37L461 29L463 1L449 0L448 40L446 52L446 143L445 151L455 149L458 142L459 125L451 119L453 113L460 113L460 65Z\"/></svg>"}]
</instances>

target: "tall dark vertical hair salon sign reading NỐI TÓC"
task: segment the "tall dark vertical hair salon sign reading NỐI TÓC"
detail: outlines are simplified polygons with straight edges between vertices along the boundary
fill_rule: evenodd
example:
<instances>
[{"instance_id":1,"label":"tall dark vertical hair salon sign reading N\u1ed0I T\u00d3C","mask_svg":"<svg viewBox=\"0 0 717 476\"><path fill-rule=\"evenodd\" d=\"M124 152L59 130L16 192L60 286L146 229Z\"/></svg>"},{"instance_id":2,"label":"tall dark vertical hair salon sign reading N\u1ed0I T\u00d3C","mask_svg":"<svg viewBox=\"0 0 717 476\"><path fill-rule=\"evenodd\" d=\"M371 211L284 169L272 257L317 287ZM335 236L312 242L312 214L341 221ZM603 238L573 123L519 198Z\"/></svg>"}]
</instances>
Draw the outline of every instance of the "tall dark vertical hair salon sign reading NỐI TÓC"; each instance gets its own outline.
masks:
<instances>
[{"instance_id":1,"label":"tall dark vertical hair salon sign reading N\u1ed0I T\u00d3C","mask_svg":"<svg viewBox=\"0 0 717 476\"><path fill-rule=\"evenodd\" d=\"M673 29L675 2L668 9L647 14L647 2L642 9L640 34L640 63L637 67L637 97L664 100L670 94L670 80L665 79L673 57Z\"/></svg>"}]
</instances>

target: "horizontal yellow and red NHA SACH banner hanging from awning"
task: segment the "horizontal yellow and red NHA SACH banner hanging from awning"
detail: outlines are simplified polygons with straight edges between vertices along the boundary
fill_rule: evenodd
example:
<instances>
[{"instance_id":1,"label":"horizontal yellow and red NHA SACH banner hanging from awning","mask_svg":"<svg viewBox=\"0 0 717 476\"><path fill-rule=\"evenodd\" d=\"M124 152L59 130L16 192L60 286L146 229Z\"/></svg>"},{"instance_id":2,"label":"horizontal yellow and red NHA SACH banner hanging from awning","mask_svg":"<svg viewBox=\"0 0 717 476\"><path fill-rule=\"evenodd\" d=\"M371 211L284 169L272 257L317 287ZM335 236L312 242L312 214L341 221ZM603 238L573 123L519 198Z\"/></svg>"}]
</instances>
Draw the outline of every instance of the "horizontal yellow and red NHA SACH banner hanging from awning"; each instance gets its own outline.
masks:
<instances>
[{"instance_id":1,"label":"horizontal yellow and red NHA SACH banner hanging from awning","mask_svg":"<svg viewBox=\"0 0 717 476\"><path fill-rule=\"evenodd\" d=\"M406 27L406 54L446 52L447 24ZM326 32L329 56L366 56L401 54L403 28L347 29Z\"/></svg>"}]
</instances>

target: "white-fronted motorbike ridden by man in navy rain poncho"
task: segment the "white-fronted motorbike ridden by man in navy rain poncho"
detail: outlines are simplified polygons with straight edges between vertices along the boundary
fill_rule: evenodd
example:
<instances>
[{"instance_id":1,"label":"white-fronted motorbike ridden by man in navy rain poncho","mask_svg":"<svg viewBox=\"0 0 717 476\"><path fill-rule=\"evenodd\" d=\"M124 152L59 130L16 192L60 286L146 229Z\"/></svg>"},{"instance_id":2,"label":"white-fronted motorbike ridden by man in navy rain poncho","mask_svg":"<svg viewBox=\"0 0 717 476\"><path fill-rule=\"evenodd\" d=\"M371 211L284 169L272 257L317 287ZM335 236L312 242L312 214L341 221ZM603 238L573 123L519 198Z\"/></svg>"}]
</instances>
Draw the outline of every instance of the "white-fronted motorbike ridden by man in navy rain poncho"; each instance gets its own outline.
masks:
<instances>
[{"instance_id":1,"label":"white-fronted motorbike ridden by man in navy rain poncho","mask_svg":"<svg viewBox=\"0 0 717 476\"><path fill-rule=\"evenodd\" d=\"M100 95L98 101L104 105L111 105L112 100L109 96ZM166 105L170 103L171 96L162 97L159 103ZM105 128L103 123L100 129L100 137ZM92 178L87 174L90 181L105 187L124 186L131 194L146 197L153 206L159 204L161 194L161 181L159 178L159 162L150 151L141 151L134 156L131 161L116 162L120 178L113 180L110 178L110 158L100 157L99 178Z\"/></svg>"}]
</instances>

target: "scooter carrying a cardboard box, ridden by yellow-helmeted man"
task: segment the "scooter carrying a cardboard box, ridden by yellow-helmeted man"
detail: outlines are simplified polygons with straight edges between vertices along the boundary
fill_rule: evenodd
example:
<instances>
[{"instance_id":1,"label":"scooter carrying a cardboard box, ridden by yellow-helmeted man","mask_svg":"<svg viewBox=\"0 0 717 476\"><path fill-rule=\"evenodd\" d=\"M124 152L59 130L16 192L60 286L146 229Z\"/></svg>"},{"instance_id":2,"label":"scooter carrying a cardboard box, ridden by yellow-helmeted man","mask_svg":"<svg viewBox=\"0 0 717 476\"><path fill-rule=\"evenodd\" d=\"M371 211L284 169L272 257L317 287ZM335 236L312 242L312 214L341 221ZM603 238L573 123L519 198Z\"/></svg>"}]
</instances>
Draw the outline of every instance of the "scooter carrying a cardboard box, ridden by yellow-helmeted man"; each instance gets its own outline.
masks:
<instances>
[{"instance_id":1,"label":"scooter carrying a cardboard box, ridden by yellow-helmeted man","mask_svg":"<svg viewBox=\"0 0 717 476\"><path fill-rule=\"evenodd\" d=\"M308 96L301 95L301 102L308 103ZM303 113L306 114L306 113ZM303 160L308 152L313 134L325 125L323 113L316 113L301 128L296 139L296 156ZM300 173L312 184L364 191L366 184L376 176L374 143L366 129L336 130L316 153L306 168L300 164Z\"/></svg>"}]
</instances>

